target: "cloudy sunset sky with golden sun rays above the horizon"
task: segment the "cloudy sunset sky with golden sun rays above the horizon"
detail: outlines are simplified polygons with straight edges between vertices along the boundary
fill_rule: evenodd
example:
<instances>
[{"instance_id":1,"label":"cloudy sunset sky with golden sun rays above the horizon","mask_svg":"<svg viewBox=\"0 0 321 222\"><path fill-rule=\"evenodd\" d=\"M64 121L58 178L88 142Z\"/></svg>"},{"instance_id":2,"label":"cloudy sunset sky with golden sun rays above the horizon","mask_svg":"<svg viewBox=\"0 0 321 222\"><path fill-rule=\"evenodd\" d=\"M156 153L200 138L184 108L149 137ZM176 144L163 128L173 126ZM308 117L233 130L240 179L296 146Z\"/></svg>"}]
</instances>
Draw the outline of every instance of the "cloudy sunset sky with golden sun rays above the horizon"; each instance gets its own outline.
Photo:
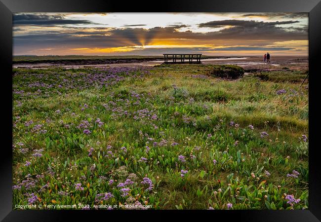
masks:
<instances>
[{"instance_id":1,"label":"cloudy sunset sky with golden sun rays above the horizon","mask_svg":"<svg viewBox=\"0 0 321 222\"><path fill-rule=\"evenodd\" d=\"M13 55L308 56L308 13L16 13Z\"/></svg>"}]
</instances>

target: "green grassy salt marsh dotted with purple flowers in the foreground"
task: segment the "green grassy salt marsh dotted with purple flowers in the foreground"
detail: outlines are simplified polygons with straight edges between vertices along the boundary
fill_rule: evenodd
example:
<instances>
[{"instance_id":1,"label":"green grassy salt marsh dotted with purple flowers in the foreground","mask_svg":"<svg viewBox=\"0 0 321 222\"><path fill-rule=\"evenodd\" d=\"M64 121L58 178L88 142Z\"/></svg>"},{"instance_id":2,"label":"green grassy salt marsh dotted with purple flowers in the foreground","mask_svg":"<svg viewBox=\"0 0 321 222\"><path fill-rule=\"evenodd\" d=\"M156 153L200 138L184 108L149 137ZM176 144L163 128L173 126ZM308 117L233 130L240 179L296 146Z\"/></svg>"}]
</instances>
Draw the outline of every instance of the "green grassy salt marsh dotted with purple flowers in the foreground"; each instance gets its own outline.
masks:
<instances>
[{"instance_id":1,"label":"green grassy salt marsh dotted with purple flowers in the foreground","mask_svg":"<svg viewBox=\"0 0 321 222\"><path fill-rule=\"evenodd\" d=\"M287 81L298 75L288 71L280 82L256 74L231 81L216 77L218 68L230 69L14 69L13 208L28 201L77 209L135 201L153 209L308 208L306 84ZM293 170L298 178L286 176ZM122 196L126 179L133 184ZM285 199L292 194L301 199L293 206Z\"/></svg>"}]
</instances>

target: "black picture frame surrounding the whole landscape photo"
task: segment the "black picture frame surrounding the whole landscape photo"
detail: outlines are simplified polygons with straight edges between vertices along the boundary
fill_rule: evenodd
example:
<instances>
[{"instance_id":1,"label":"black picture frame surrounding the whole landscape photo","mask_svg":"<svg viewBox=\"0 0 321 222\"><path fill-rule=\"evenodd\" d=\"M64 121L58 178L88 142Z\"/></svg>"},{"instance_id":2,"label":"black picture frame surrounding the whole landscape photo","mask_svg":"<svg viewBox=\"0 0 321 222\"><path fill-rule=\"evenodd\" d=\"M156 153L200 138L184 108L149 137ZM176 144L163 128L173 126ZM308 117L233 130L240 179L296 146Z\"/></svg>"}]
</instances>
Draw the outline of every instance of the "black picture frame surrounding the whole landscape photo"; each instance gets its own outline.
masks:
<instances>
[{"instance_id":1,"label":"black picture frame surrounding the whole landscape photo","mask_svg":"<svg viewBox=\"0 0 321 222\"><path fill-rule=\"evenodd\" d=\"M218 217L241 221L315 222L321 220L321 167L318 146L318 75L321 61L321 0L172 0L172 1L115 1L115 0L0 0L0 61L2 79L1 183L0 220L3 221L65 221L72 216L83 220L97 220L102 216L133 219L147 214L146 219L166 219L168 211L72 211L72 210L12 210L12 13L16 12L308 12L309 13L309 209L292 211L177 211L178 217L201 213L201 220ZM11 138L11 139L10 139ZM11 143L11 144L10 144ZM108 212L108 215L106 215ZM205 215L208 219L205 219ZM143 216L145 217L145 216ZM130 219L130 220L131 220ZM141 218L141 220L144 220Z\"/></svg>"}]
</instances>

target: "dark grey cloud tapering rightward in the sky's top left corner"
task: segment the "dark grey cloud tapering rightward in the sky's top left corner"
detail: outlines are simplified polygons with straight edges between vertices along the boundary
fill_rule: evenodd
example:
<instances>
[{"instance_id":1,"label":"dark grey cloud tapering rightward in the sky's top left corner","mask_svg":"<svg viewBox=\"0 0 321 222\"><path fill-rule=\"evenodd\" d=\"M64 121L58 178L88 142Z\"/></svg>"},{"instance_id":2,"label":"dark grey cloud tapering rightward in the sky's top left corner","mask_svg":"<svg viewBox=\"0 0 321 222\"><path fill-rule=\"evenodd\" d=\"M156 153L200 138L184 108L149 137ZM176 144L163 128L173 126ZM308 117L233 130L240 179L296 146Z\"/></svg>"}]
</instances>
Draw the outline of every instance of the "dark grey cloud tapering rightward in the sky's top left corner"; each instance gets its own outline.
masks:
<instances>
[{"instance_id":1,"label":"dark grey cloud tapering rightward in the sky's top left corner","mask_svg":"<svg viewBox=\"0 0 321 222\"><path fill-rule=\"evenodd\" d=\"M64 15L48 15L48 14L14 14L14 26L56 26L56 25L88 25L97 24L89 20L73 20L64 19Z\"/></svg>"}]
</instances>

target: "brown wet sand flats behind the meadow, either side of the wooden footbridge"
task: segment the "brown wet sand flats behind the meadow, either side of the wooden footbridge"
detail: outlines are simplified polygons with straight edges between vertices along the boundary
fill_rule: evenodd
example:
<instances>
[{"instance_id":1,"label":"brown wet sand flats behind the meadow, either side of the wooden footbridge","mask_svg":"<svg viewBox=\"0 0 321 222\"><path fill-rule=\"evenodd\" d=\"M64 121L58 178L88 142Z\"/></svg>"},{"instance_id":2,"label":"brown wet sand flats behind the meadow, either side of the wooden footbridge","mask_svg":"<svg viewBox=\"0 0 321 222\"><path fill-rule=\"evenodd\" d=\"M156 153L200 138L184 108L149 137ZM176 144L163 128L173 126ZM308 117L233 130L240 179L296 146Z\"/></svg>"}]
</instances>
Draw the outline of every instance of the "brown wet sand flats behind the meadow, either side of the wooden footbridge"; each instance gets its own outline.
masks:
<instances>
[{"instance_id":1,"label":"brown wet sand flats behind the meadow, either side of the wooden footbridge","mask_svg":"<svg viewBox=\"0 0 321 222\"><path fill-rule=\"evenodd\" d=\"M257 71L278 71L278 70L309 70L309 58L303 56L271 56L271 63L263 62L263 56L253 57L231 57L224 59L203 59L202 64L222 64L222 65L237 65L247 72ZM13 64L12 68L28 68L28 69L46 69L52 67L62 67L66 69L77 69L85 67L137 67L137 66L155 66L162 64L162 61L149 61L139 63L115 63L115 64L95 64L95 65L57 65L50 63L35 63L35 64Z\"/></svg>"}]
</instances>

